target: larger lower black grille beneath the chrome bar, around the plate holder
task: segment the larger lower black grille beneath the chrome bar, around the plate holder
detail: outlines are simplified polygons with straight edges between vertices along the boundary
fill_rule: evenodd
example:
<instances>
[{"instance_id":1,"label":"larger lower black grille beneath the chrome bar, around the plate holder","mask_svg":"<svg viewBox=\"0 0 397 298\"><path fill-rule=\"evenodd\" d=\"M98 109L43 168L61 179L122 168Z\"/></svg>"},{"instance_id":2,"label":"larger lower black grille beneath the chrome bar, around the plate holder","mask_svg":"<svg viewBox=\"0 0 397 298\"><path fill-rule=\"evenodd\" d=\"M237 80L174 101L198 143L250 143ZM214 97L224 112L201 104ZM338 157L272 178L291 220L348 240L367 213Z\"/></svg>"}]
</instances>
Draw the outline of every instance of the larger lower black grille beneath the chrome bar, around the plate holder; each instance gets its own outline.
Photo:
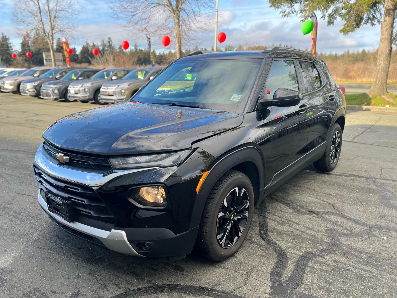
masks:
<instances>
[{"instance_id":1,"label":"larger lower black grille beneath the chrome bar, around the plate holder","mask_svg":"<svg viewBox=\"0 0 397 298\"><path fill-rule=\"evenodd\" d=\"M40 191L71 201L74 221L95 228L112 230L116 219L92 188L55 178L37 166L34 166L34 170Z\"/></svg>"}]
</instances>

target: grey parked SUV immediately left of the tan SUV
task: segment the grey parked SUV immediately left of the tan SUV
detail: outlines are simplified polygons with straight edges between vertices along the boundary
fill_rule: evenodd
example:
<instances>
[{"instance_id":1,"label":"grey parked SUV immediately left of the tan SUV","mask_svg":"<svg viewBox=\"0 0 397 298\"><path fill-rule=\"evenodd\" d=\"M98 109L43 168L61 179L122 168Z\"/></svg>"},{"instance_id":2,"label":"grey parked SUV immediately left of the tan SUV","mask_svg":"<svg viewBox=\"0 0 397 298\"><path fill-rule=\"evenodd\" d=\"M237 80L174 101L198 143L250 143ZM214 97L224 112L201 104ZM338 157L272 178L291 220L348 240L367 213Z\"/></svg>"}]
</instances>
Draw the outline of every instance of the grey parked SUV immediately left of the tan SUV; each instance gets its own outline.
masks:
<instances>
[{"instance_id":1,"label":"grey parked SUV immediately left of the tan SUV","mask_svg":"<svg viewBox=\"0 0 397 298\"><path fill-rule=\"evenodd\" d=\"M96 104L101 104L98 97L100 97L99 89L102 84L106 81L121 79L133 69L134 68L108 68L100 70L90 79L73 82L67 88L69 99L77 99L81 103L95 101Z\"/></svg>"}]
</instances>

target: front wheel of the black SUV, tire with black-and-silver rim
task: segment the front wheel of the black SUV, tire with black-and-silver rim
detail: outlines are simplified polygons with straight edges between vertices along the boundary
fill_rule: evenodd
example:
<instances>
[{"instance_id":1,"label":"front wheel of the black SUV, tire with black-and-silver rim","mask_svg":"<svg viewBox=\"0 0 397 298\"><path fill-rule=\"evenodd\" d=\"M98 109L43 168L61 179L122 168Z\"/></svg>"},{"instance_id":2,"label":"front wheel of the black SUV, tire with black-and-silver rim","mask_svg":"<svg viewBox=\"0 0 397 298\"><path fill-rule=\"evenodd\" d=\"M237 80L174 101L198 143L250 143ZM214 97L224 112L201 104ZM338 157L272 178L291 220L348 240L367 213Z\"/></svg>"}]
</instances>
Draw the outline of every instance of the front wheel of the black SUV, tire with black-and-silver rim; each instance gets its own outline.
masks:
<instances>
[{"instance_id":1,"label":"front wheel of the black SUV, tire with black-and-silver rim","mask_svg":"<svg viewBox=\"0 0 397 298\"><path fill-rule=\"evenodd\" d=\"M237 204L241 209L229 212L234 209L232 199L237 194L243 194L241 203ZM218 262L233 255L247 236L253 212L254 190L251 181L242 172L229 170L212 188L204 206L196 243L198 251L207 259ZM223 215L219 216L221 213ZM240 233L237 226L240 226ZM217 234L220 235L219 240Z\"/></svg>"}]
</instances>

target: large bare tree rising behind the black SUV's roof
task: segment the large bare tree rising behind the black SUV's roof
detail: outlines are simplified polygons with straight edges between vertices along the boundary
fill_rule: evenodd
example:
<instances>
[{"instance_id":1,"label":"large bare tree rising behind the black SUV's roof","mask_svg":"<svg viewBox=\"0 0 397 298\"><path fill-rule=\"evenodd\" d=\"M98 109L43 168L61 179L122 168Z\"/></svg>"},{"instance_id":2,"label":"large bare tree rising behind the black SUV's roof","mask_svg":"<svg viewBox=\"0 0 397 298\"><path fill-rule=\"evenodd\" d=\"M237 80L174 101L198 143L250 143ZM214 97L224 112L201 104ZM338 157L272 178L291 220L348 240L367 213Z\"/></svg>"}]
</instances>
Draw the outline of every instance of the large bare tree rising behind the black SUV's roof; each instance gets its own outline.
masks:
<instances>
[{"instance_id":1,"label":"large bare tree rising behind the black SUV's roof","mask_svg":"<svg viewBox=\"0 0 397 298\"><path fill-rule=\"evenodd\" d=\"M114 0L110 6L123 19L129 32L144 32L161 36L172 34L176 56L182 56L182 41L191 33L206 27L206 19L214 13L212 0ZM186 34L187 33L187 34Z\"/></svg>"}]
</instances>

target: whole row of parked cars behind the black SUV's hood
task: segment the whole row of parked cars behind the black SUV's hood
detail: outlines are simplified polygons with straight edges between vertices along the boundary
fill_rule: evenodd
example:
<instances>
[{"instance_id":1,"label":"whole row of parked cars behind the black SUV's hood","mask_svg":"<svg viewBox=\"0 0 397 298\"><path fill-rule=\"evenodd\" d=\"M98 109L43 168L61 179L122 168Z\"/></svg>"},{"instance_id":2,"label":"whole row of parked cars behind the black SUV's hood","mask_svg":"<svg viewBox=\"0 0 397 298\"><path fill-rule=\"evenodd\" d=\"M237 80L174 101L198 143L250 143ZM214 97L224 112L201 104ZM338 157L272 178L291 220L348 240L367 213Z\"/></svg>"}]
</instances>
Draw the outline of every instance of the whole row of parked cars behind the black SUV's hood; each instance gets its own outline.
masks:
<instances>
[{"instance_id":1,"label":"whole row of parked cars behind the black SUV's hood","mask_svg":"<svg viewBox=\"0 0 397 298\"><path fill-rule=\"evenodd\" d=\"M118 103L128 100L161 70L161 67L5 68L0 70L0 90L66 102Z\"/></svg>"}]
</instances>

